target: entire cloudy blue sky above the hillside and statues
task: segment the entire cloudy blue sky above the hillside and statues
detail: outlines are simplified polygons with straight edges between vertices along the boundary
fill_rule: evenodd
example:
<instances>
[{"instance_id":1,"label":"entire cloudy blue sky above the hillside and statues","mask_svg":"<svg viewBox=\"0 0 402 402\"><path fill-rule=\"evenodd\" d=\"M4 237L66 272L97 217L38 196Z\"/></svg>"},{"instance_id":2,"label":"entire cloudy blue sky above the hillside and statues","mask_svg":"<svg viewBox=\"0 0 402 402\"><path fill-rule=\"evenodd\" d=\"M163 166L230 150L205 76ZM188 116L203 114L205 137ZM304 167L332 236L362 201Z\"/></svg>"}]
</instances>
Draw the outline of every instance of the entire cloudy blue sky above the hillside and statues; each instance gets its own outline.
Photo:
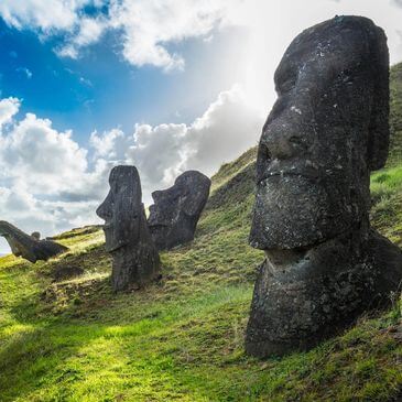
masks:
<instances>
[{"instance_id":1,"label":"entire cloudy blue sky above the hillside and statues","mask_svg":"<svg viewBox=\"0 0 402 402\"><path fill-rule=\"evenodd\" d=\"M1 0L0 219L98 224L118 164L146 205L213 175L258 143L293 37L336 14L372 19L402 61L402 0Z\"/></svg>"}]
</instances>

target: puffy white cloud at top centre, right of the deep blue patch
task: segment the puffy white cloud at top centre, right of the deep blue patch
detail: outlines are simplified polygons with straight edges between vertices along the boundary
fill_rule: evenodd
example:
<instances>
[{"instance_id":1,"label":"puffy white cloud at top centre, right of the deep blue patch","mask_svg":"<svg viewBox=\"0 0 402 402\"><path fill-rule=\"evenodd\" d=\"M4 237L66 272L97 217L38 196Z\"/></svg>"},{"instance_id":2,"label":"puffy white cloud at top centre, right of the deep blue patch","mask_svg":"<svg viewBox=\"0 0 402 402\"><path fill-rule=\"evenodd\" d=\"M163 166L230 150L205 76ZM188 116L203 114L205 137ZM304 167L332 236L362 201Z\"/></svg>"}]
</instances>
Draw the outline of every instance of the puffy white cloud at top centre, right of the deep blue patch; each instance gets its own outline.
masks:
<instances>
[{"instance_id":1,"label":"puffy white cloud at top centre, right of the deep blue patch","mask_svg":"<svg viewBox=\"0 0 402 402\"><path fill-rule=\"evenodd\" d=\"M122 53L131 64L181 69L183 57L170 52L166 44L210 36L229 3L236 7L238 0L113 1L110 25L123 30Z\"/></svg>"}]
</instances>

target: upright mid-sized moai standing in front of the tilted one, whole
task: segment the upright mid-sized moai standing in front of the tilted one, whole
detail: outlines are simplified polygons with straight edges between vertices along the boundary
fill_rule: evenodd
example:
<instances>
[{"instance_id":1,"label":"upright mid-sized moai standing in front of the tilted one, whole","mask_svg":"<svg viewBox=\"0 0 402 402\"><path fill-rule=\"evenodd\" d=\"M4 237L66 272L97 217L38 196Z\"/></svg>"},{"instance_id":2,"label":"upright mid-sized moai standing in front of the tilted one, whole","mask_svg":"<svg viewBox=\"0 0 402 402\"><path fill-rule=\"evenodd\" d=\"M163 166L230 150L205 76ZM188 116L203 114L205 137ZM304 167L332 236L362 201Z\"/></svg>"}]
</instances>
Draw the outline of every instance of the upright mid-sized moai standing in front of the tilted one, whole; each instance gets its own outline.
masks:
<instances>
[{"instance_id":1,"label":"upright mid-sized moai standing in front of the tilted one, whole","mask_svg":"<svg viewBox=\"0 0 402 402\"><path fill-rule=\"evenodd\" d=\"M159 276L160 258L146 226L141 182L134 166L110 172L110 192L96 210L105 220L106 251L113 259L115 291L138 289Z\"/></svg>"}]
</instances>

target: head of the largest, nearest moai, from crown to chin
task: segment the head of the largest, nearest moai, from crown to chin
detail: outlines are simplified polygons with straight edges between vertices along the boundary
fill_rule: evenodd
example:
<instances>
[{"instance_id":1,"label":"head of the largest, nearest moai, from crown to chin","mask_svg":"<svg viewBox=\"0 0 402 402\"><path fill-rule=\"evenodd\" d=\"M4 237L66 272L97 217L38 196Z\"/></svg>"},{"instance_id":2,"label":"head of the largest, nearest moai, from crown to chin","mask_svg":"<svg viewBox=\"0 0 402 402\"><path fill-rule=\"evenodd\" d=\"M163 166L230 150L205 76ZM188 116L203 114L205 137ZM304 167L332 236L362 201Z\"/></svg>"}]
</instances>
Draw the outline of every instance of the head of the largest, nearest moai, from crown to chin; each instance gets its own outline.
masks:
<instances>
[{"instance_id":1,"label":"head of the largest, nearest moai, from crown to chin","mask_svg":"<svg viewBox=\"0 0 402 402\"><path fill-rule=\"evenodd\" d=\"M369 174L388 154L387 37L366 18L336 17L291 43L274 80L250 243L305 248L368 220Z\"/></svg>"}]
</instances>

